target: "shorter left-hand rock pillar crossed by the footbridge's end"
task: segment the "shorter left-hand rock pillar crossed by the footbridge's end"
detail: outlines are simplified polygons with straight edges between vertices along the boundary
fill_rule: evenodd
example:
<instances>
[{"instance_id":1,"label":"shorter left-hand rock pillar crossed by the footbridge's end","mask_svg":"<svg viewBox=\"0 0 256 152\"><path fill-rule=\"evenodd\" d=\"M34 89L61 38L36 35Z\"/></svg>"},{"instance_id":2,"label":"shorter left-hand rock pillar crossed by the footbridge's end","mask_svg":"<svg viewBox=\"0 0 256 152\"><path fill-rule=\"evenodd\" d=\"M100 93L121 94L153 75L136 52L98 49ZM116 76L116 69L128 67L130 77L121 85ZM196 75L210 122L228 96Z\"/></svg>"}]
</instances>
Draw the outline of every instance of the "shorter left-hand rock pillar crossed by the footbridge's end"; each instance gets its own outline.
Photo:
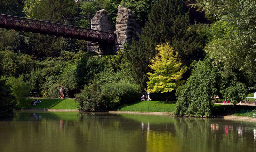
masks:
<instances>
[{"instance_id":1,"label":"shorter left-hand rock pillar crossed by the footbridge's end","mask_svg":"<svg viewBox=\"0 0 256 152\"><path fill-rule=\"evenodd\" d=\"M108 21L107 14L108 13L106 10L97 11L91 20L91 29L114 33L114 29L111 27L111 24ZM91 41L89 41L87 44L88 51L94 51L102 54L112 54L112 45L109 46L107 44L100 44L101 46L99 46L99 44L92 43Z\"/></svg>"}]
</instances>

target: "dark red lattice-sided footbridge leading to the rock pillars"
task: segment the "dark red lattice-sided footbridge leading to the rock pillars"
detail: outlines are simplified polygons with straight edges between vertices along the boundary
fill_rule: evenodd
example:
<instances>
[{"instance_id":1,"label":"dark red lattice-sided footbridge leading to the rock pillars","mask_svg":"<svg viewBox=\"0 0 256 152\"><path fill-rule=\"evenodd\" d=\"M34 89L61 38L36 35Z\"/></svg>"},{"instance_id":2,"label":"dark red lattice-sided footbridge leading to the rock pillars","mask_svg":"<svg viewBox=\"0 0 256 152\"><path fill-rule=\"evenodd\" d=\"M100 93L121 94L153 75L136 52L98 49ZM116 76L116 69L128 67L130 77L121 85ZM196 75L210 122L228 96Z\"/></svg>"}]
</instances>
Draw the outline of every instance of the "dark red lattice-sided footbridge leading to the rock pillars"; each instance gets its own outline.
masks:
<instances>
[{"instance_id":1,"label":"dark red lattice-sided footbridge leading to the rock pillars","mask_svg":"<svg viewBox=\"0 0 256 152\"><path fill-rule=\"evenodd\" d=\"M96 42L107 41L115 43L116 40L115 33L4 14L0 14L0 28L63 36L66 38L75 38Z\"/></svg>"}]
</instances>

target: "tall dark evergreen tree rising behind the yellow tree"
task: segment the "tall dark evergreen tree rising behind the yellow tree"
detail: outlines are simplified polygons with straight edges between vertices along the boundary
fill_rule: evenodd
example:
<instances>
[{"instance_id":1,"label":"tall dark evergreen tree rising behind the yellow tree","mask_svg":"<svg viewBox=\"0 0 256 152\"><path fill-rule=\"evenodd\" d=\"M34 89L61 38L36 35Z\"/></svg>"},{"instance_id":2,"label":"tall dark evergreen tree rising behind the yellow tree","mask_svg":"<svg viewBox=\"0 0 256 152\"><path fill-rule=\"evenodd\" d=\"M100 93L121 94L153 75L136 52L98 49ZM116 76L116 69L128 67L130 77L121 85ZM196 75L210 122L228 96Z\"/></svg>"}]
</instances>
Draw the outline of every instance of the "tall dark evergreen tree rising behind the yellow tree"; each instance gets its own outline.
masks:
<instances>
[{"instance_id":1,"label":"tall dark evergreen tree rising behind the yellow tree","mask_svg":"<svg viewBox=\"0 0 256 152\"><path fill-rule=\"evenodd\" d=\"M157 44L169 43L182 56L181 62L188 66L192 60L204 58L204 27L190 25L189 14L182 0L159 0L152 5L139 41L132 41L127 56L132 63L134 79L146 87L148 64Z\"/></svg>"}]
</instances>

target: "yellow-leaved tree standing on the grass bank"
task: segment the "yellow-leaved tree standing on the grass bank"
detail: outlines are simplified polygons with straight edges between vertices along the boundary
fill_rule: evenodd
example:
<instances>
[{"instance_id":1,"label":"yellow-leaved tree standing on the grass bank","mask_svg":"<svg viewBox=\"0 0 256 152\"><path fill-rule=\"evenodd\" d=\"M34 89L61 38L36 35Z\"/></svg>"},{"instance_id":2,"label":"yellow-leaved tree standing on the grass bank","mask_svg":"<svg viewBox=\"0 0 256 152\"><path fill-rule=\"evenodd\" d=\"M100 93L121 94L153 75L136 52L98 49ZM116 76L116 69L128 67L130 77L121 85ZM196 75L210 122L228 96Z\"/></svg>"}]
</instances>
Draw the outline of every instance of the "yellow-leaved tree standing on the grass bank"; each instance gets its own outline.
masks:
<instances>
[{"instance_id":1,"label":"yellow-leaved tree standing on the grass bank","mask_svg":"<svg viewBox=\"0 0 256 152\"><path fill-rule=\"evenodd\" d=\"M177 89L184 83L184 80L180 79L188 67L182 66L178 53L174 52L168 43L158 44L156 50L159 53L150 60L151 64L148 65L153 73L147 73L149 75L147 91L166 92L166 101L168 102L168 92Z\"/></svg>"}]
</instances>

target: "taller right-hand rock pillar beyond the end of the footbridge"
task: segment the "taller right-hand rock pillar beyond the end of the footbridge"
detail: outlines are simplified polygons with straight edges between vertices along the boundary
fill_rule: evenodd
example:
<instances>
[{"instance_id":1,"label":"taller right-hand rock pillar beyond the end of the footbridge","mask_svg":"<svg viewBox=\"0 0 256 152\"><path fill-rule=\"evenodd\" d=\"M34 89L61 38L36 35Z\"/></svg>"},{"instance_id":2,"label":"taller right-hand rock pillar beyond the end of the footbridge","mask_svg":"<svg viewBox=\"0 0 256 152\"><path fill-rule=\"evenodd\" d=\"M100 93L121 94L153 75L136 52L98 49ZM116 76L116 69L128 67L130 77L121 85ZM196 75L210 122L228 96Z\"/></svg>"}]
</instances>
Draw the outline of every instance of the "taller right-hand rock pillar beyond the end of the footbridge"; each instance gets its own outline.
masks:
<instances>
[{"instance_id":1,"label":"taller right-hand rock pillar beyond the end of the footbridge","mask_svg":"<svg viewBox=\"0 0 256 152\"><path fill-rule=\"evenodd\" d=\"M138 40L136 32L141 33L142 30L139 23L135 20L132 10L126 9L121 5L118 6L117 10L115 33L117 35L117 43L120 44L118 45L118 50L122 50L124 43L127 42L132 45L132 38Z\"/></svg>"}]
</instances>

